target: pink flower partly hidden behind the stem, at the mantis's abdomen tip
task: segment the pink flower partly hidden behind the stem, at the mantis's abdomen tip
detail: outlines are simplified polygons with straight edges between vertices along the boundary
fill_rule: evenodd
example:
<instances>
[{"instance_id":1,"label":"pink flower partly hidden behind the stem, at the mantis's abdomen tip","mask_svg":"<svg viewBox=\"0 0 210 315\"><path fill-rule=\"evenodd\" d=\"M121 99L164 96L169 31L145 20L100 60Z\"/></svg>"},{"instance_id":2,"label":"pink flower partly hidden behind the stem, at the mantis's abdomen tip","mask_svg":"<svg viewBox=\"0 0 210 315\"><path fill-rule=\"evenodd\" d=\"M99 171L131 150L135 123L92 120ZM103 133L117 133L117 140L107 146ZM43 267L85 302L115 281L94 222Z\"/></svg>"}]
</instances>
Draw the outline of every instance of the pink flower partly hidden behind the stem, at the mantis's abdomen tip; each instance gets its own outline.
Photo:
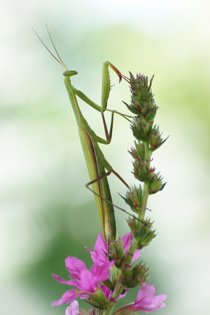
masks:
<instances>
[{"instance_id":1,"label":"pink flower partly hidden behind the stem, at the mantis's abdomen tip","mask_svg":"<svg viewBox=\"0 0 210 315\"><path fill-rule=\"evenodd\" d=\"M129 249L132 237L133 237L132 233L130 232L130 233L124 235L121 238L122 239L122 243L123 243L123 250L124 250L124 252ZM91 258L95 262L96 261L96 253L92 252L88 247L85 247L85 248L88 250L88 253L90 253ZM103 240L101 233L99 233L99 236L98 236L98 238L96 240L94 250L96 248L99 250L99 252L101 254L100 258L99 258L99 266L103 266L104 264L107 264L109 262L109 259L107 258L107 255L106 255L106 253L107 253L107 243ZM135 259L139 258L140 251L141 251L140 249L136 250L135 254L133 255L132 261L134 261Z\"/></svg>"}]
</instances>

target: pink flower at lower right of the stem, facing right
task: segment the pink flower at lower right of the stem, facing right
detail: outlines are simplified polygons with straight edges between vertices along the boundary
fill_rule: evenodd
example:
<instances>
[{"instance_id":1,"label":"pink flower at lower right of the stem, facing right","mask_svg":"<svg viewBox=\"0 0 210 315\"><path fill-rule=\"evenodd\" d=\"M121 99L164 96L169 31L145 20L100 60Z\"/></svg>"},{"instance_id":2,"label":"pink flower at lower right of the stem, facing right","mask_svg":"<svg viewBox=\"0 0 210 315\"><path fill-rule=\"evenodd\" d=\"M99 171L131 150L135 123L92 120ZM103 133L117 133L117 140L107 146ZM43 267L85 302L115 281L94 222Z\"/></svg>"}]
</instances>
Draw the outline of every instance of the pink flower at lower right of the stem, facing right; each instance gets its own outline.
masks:
<instances>
[{"instance_id":1,"label":"pink flower at lower right of the stem, facing right","mask_svg":"<svg viewBox=\"0 0 210 315\"><path fill-rule=\"evenodd\" d=\"M167 295L155 295L155 293L156 289L154 285L143 285L137 294L137 300L134 302L134 310L148 313L166 306L162 301L167 298Z\"/></svg>"}]
</instances>

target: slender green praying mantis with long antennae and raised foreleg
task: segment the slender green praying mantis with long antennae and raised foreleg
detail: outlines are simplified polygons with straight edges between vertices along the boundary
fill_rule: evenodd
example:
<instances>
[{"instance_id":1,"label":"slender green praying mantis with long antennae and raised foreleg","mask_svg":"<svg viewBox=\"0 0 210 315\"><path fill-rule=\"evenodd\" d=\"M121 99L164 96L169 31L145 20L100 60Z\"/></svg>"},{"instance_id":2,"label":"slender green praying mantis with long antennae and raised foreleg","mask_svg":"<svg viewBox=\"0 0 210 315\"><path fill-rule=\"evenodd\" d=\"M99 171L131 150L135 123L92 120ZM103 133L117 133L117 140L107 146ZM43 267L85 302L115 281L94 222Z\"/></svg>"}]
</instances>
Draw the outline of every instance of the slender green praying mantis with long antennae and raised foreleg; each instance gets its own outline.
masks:
<instances>
[{"instance_id":1,"label":"slender green praying mantis with long antennae and raised foreleg","mask_svg":"<svg viewBox=\"0 0 210 315\"><path fill-rule=\"evenodd\" d=\"M47 27L47 26L46 26ZM48 30L48 27L47 27ZM34 31L34 29L33 29ZM34 31L35 32L35 31ZM35 32L37 35L37 33ZM50 33L48 31L49 37L52 41L52 38L50 36ZM37 37L40 39L40 41L43 43L41 38L37 35ZM53 43L53 41L52 41ZM45 46L45 44L43 43ZM53 43L54 46L54 43ZM45 46L46 47L46 46ZM46 49L49 51L49 49L46 47ZM55 46L54 46L55 49ZM57 50L55 49L56 53ZM50 51L49 51L50 52ZM52 54L50 52L50 54ZM53 54L52 54L53 55ZM60 56L57 53L59 59ZM94 103L92 100L90 100L84 93L82 93L80 90L77 90L73 87L71 84L70 77L77 75L77 71L69 69L65 66L63 61L60 59L60 61L53 55L53 57L63 66L65 67L65 71L63 72L64 83L65 87L67 89L69 99L71 102L71 106L73 109L73 112L75 114L75 118L78 125L78 131L80 136L80 141L82 145L82 150L85 156L88 173L90 177L90 182L86 184L88 187L90 184L92 185L92 191L94 192L94 198L96 202L96 206L99 213L99 219L102 226L104 239L107 240L107 238L110 238L112 240L115 240L116 238L116 221L115 221L115 214L114 214L114 207L112 203L111 198L111 192L107 180L107 176L111 173L115 174L124 184L127 188L129 188L128 184L122 179L122 177L112 168L110 163L105 159L102 151L99 148L98 143L102 144L109 144L111 142L111 136L112 136L112 128L113 128L113 117L114 112L112 111L111 115L111 127L110 132L108 133L104 112L107 107L107 101L109 98L109 93L111 89L111 83L110 83L110 77L109 77L109 66L116 72L116 74L119 77L119 81L122 80L122 74L121 72L113 66L109 61L105 61L103 63L102 67L102 94L101 94L101 106ZM102 115L102 120L104 124L105 129L105 139L100 138L97 136L94 131L90 128L87 121L82 115L82 112L78 106L77 102L77 96L82 99L85 103L96 109L98 112ZM124 115L123 115L124 116ZM106 172L106 171L107 172ZM89 187L88 187L89 188ZM89 188L90 189L90 188ZM119 208L119 207L117 207ZM121 209L121 208L119 208ZM124 212L126 212L124 209L121 209Z\"/></svg>"}]
</instances>

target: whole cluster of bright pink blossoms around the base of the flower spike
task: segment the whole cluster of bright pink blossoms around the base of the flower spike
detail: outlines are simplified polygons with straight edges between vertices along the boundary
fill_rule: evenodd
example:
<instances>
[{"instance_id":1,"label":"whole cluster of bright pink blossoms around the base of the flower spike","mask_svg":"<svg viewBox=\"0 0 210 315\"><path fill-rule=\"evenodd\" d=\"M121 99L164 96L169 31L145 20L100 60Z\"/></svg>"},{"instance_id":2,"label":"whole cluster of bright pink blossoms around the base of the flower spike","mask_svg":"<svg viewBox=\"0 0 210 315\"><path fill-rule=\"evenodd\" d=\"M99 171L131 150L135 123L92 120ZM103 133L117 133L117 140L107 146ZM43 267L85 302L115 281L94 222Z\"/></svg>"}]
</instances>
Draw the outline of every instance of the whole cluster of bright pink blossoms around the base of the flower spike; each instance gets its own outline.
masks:
<instances>
[{"instance_id":1,"label":"whole cluster of bright pink blossoms around the base of the flower spike","mask_svg":"<svg viewBox=\"0 0 210 315\"><path fill-rule=\"evenodd\" d=\"M124 252L129 249L131 238L131 233L122 237ZM111 283L110 273L115 263L113 260L109 261L107 258L107 245L103 240L101 233L99 233L96 240L94 251L91 251L87 247L86 249L91 254L94 261L90 270L86 268L83 261L76 257L69 256L65 260L65 265L70 275L75 278L75 280L69 276L71 280L66 281L57 275L52 274L53 278L57 281L77 287L77 289L66 291L58 301L54 301L51 304L52 306L58 306L71 302L70 306L66 309L65 315L102 315L102 311L107 309L108 302L112 300L114 301L113 283L112 290L108 289L104 284L99 284L100 282L105 284L109 284L109 282ZM133 255L132 261L139 258L139 255L140 250L137 249ZM128 290L128 288L125 288L122 294L119 295L118 299L124 297ZM146 283L142 284L137 295L137 300L134 303L118 308L114 312L114 315L129 315L137 311L152 312L160 307L164 307L165 304L162 303L162 301L166 299L166 295L162 294L156 296L155 293L156 290L154 285L150 286L146 285ZM94 306L93 309L89 309L88 313L84 310L79 312L78 302L76 300L73 301L79 296L80 299L87 299L87 301Z\"/></svg>"}]
</instances>

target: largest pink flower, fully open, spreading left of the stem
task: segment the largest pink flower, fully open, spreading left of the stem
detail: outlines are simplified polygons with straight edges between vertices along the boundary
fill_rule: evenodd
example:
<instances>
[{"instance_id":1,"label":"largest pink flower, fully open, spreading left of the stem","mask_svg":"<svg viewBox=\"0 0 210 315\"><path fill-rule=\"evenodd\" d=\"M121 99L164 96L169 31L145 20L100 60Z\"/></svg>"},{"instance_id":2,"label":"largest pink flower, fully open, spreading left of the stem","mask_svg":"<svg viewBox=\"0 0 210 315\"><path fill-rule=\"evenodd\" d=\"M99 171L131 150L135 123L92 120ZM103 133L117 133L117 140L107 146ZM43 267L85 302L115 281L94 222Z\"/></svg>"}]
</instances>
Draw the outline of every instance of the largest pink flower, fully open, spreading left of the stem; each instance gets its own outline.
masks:
<instances>
[{"instance_id":1,"label":"largest pink flower, fully open, spreading left of the stem","mask_svg":"<svg viewBox=\"0 0 210 315\"><path fill-rule=\"evenodd\" d=\"M94 247L95 261L90 270L86 268L83 261L76 257L69 256L65 259L65 266L69 274L76 280L64 280L57 275L52 274L53 278L63 284L73 285L78 289L71 289L66 291L58 301L54 301L51 306L57 306L64 303L70 303L77 299L82 294L91 295L95 292L99 282L105 281L109 278L109 268L114 265L114 261L108 261L103 266L99 266L100 252Z\"/></svg>"}]
</instances>

